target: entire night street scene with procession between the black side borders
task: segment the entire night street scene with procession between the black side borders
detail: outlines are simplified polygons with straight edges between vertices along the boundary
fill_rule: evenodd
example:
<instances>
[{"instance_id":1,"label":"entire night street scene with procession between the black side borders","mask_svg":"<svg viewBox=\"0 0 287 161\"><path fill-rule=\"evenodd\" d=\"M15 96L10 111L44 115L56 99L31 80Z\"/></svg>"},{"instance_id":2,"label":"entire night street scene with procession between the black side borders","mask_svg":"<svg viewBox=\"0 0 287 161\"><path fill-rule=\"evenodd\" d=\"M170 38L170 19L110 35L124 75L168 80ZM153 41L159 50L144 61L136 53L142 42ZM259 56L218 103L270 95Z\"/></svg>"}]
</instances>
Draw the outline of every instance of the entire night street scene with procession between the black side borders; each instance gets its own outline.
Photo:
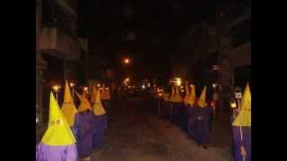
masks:
<instances>
[{"instance_id":1,"label":"entire night street scene with procession between the black side borders","mask_svg":"<svg viewBox=\"0 0 287 161\"><path fill-rule=\"evenodd\" d=\"M37 161L251 161L251 1L36 0Z\"/></svg>"}]
</instances>

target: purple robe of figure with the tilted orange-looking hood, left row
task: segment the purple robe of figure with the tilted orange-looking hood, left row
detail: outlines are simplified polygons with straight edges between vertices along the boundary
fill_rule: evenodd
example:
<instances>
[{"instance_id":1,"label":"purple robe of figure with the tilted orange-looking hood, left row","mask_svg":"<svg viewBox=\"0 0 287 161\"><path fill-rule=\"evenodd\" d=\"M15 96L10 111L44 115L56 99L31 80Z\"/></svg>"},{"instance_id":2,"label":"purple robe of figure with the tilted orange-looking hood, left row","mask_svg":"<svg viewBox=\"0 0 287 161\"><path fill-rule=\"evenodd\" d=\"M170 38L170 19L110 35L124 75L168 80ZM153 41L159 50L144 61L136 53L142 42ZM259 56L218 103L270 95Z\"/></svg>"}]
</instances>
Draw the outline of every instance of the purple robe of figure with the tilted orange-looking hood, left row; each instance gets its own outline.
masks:
<instances>
[{"instance_id":1,"label":"purple robe of figure with the tilted orange-looking hood, left row","mask_svg":"<svg viewBox=\"0 0 287 161\"><path fill-rule=\"evenodd\" d=\"M93 114L91 111L80 112L75 115L74 132L77 140L78 155L81 158L89 157L92 153Z\"/></svg>"}]
</instances>

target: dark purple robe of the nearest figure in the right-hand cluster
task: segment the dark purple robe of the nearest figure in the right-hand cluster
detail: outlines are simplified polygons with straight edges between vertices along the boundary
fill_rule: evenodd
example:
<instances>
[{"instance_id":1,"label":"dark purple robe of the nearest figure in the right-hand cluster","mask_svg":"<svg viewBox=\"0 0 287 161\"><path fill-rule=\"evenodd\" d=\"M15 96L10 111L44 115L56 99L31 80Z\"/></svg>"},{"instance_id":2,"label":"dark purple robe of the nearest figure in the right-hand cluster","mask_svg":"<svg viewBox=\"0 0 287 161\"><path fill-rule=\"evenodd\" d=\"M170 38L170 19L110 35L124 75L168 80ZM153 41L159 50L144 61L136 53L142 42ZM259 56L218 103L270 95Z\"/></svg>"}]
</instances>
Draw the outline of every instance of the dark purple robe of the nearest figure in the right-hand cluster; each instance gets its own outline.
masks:
<instances>
[{"instance_id":1,"label":"dark purple robe of the nearest figure in the right-hand cluster","mask_svg":"<svg viewBox=\"0 0 287 161\"><path fill-rule=\"evenodd\" d=\"M207 145L209 143L211 113L212 108L209 106L195 106L195 129L194 139L198 144Z\"/></svg>"}]
</instances>

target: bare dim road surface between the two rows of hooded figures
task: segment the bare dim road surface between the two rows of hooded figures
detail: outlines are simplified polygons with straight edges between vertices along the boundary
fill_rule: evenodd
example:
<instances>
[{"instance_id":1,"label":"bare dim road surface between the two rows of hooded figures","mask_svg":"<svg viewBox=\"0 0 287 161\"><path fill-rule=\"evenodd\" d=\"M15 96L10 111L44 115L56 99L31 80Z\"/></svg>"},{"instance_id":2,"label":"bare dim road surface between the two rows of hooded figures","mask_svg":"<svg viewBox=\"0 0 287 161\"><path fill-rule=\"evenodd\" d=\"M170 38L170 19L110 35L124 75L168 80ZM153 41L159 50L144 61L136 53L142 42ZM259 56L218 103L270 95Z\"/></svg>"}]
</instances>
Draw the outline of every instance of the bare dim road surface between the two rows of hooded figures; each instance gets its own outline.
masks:
<instances>
[{"instance_id":1,"label":"bare dim road surface between the two rows of hooded figures","mask_svg":"<svg viewBox=\"0 0 287 161\"><path fill-rule=\"evenodd\" d=\"M149 101L114 101L106 144L91 160L230 161L230 147L197 147L184 131L161 119Z\"/></svg>"}]
</instances>

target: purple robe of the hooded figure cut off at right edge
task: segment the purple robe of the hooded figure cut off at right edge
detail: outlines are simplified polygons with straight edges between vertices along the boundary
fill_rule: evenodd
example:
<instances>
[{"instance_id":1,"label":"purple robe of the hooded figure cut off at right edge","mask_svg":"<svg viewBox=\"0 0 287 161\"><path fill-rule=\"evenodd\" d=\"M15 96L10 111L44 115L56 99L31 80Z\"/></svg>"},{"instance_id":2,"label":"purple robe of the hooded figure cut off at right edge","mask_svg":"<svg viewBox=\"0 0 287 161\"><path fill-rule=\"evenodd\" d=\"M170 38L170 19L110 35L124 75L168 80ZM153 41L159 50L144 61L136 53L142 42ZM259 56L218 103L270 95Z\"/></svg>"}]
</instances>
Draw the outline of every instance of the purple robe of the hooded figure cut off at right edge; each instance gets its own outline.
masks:
<instances>
[{"instance_id":1,"label":"purple robe of the hooded figure cut off at right edge","mask_svg":"<svg viewBox=\"0 0 287 161\"><path fill-rule=\"evenodd\" d=\"M246 149L247 157L246 161L251 161L251 127L242 127L243 141L240 138L240 127L232 126L233 132L233 144L234 144L234 161L242 161L240 154L240 147L243 146Z\"/></svg>"}]
</instances>

